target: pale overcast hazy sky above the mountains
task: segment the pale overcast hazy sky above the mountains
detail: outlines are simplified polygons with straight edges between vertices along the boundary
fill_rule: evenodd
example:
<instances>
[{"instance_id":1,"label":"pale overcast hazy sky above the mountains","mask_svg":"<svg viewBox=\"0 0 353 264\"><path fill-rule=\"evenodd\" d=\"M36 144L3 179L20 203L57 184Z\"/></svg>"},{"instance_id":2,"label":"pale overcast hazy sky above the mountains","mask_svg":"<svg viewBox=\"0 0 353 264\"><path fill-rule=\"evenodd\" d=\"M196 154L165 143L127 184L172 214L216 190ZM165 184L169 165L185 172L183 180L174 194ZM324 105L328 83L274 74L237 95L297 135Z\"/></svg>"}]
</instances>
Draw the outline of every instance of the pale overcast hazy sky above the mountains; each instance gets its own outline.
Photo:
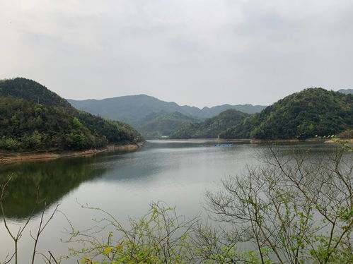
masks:
<instances>
[{"instance_id":1,"label":"pale overcast hazy sky above the mountains","mask_svg":"<svg viewBox=\"0 0 353 264\"><path fill-rule=\"evenodd\" d=\"M197 107L353 87L352 0L0 0L0 78Z\"/></svg>"}]
</instances>

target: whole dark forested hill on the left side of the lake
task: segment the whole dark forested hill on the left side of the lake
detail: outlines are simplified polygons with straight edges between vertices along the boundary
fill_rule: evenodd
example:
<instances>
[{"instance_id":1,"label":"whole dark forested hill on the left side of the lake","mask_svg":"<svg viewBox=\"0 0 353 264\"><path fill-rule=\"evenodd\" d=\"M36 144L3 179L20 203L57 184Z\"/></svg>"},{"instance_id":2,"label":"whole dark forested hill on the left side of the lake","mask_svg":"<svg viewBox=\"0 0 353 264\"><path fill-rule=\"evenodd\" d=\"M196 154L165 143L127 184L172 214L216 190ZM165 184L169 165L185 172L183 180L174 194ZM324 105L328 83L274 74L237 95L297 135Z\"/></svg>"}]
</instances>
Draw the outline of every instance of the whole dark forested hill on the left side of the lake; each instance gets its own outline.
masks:
<instances>
[{"instance_id":1,"label":"whole dark forested hill on the left side of the lake","mask_svg":"<svg viewBox=\"0 0 353 264\"><path fill-rule=\"evenodd\" d=\"M0 150L17 152L85 150L141 140L128 124L76 110L25 78L0 80L0 125Z\"/></svg>"}]
</instances>

